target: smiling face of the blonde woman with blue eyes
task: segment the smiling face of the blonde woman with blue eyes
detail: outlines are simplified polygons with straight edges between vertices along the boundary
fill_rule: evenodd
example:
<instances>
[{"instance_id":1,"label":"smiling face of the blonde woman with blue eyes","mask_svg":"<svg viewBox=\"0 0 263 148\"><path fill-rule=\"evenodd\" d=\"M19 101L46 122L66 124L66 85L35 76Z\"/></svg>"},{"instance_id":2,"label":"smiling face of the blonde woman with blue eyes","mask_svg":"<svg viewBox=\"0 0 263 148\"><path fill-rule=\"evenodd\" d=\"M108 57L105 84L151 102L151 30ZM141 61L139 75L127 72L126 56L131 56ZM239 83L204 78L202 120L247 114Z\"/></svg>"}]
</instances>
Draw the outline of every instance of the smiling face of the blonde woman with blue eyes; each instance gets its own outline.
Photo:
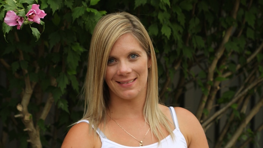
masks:
<instances>
[{"instance_id":1,"label":"smiling face of the blonde woman with blue eyes","mask_svg":"<svg viewBox=\"0 0 263 148\"><path fill-rule=\"evenodd\" d=\"M131 34L117 39L106 67L105 81L110 99L145 98L150 62L145 50Z\"/></svg>"}]
</instances>

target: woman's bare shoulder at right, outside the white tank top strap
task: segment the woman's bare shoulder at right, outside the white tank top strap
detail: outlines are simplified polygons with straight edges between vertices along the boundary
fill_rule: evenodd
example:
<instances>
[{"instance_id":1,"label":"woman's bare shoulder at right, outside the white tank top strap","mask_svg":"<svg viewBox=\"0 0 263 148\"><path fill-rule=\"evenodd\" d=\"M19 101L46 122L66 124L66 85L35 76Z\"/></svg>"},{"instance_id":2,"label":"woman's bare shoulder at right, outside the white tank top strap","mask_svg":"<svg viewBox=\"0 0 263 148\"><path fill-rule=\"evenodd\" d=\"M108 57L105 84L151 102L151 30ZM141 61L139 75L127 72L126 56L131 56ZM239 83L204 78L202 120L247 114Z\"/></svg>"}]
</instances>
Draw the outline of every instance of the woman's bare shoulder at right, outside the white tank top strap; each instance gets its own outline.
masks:
<instances>
[{"instance_id":1,"label":"woman's bare shoulder at right, outside the white tank top strap","mask_svg":"<svg viewBox=\"0 0 263 148\"><path fill-rule=\"evenodd\" d=\"M186 138L188 148L208 148L204 130L194 114L182 107L174 107L180 131Z\"/></svg>"}]
</instances>

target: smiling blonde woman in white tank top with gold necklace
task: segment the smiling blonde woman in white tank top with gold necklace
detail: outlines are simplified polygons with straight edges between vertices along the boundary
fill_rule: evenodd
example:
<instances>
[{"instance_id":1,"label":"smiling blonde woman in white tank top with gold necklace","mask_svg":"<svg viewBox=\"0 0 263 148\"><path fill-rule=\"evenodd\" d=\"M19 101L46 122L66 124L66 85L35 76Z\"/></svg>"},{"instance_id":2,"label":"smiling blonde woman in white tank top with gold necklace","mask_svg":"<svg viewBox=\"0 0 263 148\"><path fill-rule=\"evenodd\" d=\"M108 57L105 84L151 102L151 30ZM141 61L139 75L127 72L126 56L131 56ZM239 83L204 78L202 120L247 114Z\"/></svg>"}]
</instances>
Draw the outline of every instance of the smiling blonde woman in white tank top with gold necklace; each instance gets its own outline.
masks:
<instances>
[{"instance_id":1,"label":"smiling blonde woman in white tank top with gold necklace","mask_svg":"<svg viewBox=\"0 0 263 148\"><path fill-rule=\"evenodd\" d=\"M153 44L129 13L108 14L97 23L84 86L85 114L62 148L208 147L192 113L158 103Z\"/></svg>"}]
</instances>

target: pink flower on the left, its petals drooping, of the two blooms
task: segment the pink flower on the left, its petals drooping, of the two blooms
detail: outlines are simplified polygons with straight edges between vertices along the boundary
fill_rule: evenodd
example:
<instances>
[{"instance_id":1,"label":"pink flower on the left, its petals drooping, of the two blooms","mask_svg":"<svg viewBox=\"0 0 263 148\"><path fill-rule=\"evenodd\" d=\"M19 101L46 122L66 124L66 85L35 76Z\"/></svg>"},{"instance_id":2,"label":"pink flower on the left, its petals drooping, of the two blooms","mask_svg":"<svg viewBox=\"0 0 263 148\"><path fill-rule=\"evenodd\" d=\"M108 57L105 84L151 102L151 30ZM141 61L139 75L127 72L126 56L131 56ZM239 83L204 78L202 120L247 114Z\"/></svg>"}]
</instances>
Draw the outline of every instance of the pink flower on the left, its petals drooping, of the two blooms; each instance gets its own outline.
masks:
<instances>
[{"instance_id":1,"label":"pink flower on the left, its petals drooping, of the two blooms","mask_svg":"<svg viewBox=\"0 0 263 148\"><path fill-rule=\"evenodd\" d=\"M16 26L17 29L20 29L21 25L24 22L24 18L17 16L16 13L12 10L7 11L5 15L4 22L9 26Z\"/></svg>"}]
</instances>

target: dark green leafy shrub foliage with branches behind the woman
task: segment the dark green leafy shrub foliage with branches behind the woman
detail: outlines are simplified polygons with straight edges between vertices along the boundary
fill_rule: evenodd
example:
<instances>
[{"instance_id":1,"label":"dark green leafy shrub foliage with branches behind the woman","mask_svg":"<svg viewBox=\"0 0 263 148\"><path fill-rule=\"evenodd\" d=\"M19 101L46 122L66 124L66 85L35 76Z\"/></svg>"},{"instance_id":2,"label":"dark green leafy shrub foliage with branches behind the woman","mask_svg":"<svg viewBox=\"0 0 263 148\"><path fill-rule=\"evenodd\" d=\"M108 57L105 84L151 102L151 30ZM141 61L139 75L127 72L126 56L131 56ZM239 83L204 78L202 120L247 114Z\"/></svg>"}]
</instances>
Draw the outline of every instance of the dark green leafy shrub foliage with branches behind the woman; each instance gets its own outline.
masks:
<instances>
[{"instance_id":1,"label":"dark green leafy shrub foliage with branches behind the woman","mask_svg":"<svg viewBox=\"0 0 263 148\"><path fill-rule=\"evenodd\" d=\"M34 3L47 13L41 24L16 30L3 22L7 10L21 8L23 16ZM64 134L82 116L79 93L93 28L101 16L115 11L138 16L149 31L163 103L184 107L192 84L202 93L196 117L205 131L227 117L225 132L219 131L210 147L256 141L262 128L253 131L245 121L262 106L262 5L262 0L0 0L0 70L6 78L0 85L0 120L6 142L28 147L27 139L40 133L32 147L60 146L63 136L53 134ZM213 106L218 111L213 113ZM24 125L25 120L34 127Z\"/></svg>"}]
</instances>

